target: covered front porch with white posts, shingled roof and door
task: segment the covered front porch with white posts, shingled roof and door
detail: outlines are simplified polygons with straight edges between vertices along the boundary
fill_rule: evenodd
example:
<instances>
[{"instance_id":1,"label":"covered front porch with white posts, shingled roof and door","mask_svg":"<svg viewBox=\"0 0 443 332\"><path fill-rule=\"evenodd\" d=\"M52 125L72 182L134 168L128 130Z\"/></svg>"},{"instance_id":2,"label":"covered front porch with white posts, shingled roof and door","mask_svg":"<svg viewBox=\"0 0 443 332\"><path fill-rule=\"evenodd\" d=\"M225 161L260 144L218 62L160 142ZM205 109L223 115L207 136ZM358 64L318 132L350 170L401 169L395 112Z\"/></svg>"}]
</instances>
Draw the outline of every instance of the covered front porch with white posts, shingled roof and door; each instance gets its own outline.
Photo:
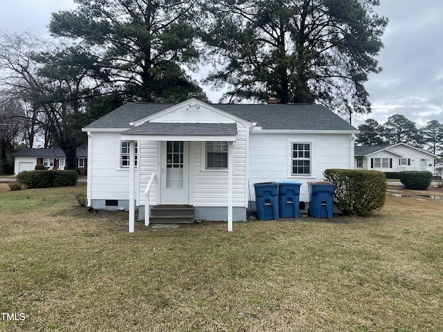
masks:
<instances>
[{"instance_id":1,"label":"covered front porch with white posts, shingled roof and door","mask_svg":"<svg viewBox=\"0 0 443 332\"><path fill-rule=\"evenodd\" d=\"M145 122L120 140L129 146L129 232L137 206L150 225L152 208L205 205L206 190L233 231L235 122Z\"/></svg>"}]
</instances>

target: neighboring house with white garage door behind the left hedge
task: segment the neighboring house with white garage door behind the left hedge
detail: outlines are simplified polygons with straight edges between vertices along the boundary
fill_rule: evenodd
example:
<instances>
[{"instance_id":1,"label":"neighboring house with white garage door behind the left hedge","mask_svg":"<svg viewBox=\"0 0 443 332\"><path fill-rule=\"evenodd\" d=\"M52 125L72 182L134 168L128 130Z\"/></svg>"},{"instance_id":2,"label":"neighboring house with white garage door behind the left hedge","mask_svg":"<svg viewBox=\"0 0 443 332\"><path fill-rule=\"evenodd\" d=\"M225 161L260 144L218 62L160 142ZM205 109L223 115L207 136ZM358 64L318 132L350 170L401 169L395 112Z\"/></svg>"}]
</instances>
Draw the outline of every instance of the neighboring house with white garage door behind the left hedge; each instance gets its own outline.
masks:
<instances>
[{"instance_id":1,"label":"neighboring house with white garage door behind the left hedge","mask_svg":"<svg viewBox=\"0 0 443 332\"><path fill-rule=\"evenodd\" d=\"M62 149L23 149L12 154L14 156L14 173L30 171L36 165L44 165L46 169L64 169L66 156ZM80 175L87 171L87 149L77 149L75 168Z\"/></svg>"}]
</instances>

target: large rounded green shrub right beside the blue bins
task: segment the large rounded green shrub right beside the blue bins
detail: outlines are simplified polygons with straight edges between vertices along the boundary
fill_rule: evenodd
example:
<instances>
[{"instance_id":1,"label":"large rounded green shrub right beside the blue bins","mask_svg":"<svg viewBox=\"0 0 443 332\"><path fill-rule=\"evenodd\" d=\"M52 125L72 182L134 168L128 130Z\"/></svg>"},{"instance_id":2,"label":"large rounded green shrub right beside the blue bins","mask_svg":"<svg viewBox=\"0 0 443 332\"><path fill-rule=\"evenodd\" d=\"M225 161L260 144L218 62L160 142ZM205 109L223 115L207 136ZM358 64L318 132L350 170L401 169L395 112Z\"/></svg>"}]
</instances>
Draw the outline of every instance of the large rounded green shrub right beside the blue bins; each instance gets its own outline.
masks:
<instances>
[{"instance_id":1,"label":"large rounded green shrub right beside the blue bins","mask_svg":"<svg viewBox=\"0 0 443 332\"><path fill-rule=\"evenodd\" d=\"M324 175L335 184L334 204L343 214L368 216L385 204L387 184L382 172L326 169Z\"/></svg>"}]
</instances>

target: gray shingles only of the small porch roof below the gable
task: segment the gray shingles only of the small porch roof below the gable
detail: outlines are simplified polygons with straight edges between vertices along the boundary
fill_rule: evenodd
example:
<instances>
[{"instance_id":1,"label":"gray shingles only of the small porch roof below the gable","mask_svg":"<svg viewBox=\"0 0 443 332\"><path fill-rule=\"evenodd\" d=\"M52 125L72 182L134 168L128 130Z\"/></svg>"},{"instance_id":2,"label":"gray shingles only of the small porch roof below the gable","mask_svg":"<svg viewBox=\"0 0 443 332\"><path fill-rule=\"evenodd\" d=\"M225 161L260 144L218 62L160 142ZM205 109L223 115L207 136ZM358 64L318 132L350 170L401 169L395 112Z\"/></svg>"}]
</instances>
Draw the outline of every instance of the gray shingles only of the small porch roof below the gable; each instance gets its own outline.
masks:
<instances>
[{"instance_id":1,"label":"gray shingles only of the small porch roof below the gable","mask_svg":"<svg viewBox=\"0 0 443 332\"><path fill-rule=\"evenodd\" d=\"M188 135L188 136L235 136L235 123L171 123L145 122L125 131L127 135Z\"/></svg>"}]
</instances>

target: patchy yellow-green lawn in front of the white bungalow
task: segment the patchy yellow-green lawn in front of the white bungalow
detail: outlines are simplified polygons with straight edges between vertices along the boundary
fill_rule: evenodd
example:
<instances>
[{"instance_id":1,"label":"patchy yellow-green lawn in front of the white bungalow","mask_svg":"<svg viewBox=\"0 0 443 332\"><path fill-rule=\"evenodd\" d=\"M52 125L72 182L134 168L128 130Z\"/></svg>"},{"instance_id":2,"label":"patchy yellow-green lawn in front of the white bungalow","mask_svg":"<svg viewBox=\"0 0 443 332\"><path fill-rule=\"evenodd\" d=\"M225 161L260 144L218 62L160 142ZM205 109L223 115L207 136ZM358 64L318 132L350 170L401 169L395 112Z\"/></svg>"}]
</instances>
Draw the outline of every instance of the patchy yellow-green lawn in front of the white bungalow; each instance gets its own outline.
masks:
<instances>
[{"instance_id":1,"label":"patchy yellow-green lawn in front of the white bungalow","mask_svg":"<svg viewBox=\"0 0 443 332\"><path fill-rule=\"evenodd\" d=\"M441 331L443 204L127 232L84 185L0 184L0 331ZM8 313L8 315L6 315ZM12 315L12 314L15 315ZM15 320L12 318L15 317Z\"/></svg>"}]
</instances>

